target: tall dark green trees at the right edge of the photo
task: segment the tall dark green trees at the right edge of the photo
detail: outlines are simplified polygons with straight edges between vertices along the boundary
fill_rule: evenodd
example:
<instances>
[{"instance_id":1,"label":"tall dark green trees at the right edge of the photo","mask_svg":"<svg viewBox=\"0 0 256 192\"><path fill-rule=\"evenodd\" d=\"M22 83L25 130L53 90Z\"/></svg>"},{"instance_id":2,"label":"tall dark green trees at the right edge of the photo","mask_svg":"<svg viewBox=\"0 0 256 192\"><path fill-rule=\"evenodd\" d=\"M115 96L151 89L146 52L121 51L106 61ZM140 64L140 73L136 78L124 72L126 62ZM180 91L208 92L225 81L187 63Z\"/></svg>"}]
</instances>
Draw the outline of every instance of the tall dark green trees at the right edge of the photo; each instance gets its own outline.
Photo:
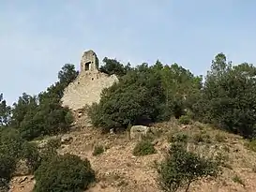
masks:
<instances>
[{"instance_id":1,"label":"tall dark green trees at the right edge of the photo","mask_svg":"<svg viewBox=\"0 0 256 192\"><path fill-rule=\"evenodd\" d=\"M201 121L252 138L255 134L256 67L243 63L232 66L219 53L212 63L202 96L192 111Z\"/></svg>"}]
</instances>

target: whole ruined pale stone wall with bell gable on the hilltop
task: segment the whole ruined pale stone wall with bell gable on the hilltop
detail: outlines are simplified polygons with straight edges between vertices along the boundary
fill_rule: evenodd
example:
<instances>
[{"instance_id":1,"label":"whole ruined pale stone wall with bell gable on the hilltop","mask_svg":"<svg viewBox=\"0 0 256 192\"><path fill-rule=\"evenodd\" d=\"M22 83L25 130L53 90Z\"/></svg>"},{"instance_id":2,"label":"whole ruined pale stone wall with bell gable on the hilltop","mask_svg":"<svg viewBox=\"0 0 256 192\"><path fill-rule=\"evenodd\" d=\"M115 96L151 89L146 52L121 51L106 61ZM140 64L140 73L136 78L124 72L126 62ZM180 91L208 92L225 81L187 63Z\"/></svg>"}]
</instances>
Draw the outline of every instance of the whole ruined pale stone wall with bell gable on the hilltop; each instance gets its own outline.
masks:
<instances>
[{"instance_id":1,"label":"whole ruined pale stone wall with bell gable on the hilltop","mask_svg":"<svg viewBox=\"0 0 256 192\"><path fill-rule=\"evenodd\" d=\"M118 81L115 75L109 76L98 71L98 57L95 52L83 52L80 73L65 89L62 105L78 111L86 105L98 103L102 90L113 85L114 81Z\"/></svg>"}]
</instances>

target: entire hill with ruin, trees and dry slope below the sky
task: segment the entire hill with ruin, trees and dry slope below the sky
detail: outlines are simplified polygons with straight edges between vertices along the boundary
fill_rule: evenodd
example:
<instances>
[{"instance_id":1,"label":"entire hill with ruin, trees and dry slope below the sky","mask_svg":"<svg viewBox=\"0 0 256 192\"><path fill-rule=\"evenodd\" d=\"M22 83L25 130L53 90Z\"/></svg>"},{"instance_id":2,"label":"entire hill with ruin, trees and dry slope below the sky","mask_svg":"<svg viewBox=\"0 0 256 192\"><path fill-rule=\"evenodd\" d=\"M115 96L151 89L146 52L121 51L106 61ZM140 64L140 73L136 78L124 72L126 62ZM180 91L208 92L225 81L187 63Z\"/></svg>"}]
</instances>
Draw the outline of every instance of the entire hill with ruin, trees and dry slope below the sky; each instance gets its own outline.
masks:
<instances>
[{"instance_id":1,"label":"entire hill with ruin, trees and dry slope below the sky","mask_svg":"<svg viewBox=\"0 0 256 192\"><path fill-rule=\"evenodd\" d=\"M224 53L203 81L84 52L37 96L0 96L0 190L253 191L255 75Z\"/></svg>"}]
</instances>

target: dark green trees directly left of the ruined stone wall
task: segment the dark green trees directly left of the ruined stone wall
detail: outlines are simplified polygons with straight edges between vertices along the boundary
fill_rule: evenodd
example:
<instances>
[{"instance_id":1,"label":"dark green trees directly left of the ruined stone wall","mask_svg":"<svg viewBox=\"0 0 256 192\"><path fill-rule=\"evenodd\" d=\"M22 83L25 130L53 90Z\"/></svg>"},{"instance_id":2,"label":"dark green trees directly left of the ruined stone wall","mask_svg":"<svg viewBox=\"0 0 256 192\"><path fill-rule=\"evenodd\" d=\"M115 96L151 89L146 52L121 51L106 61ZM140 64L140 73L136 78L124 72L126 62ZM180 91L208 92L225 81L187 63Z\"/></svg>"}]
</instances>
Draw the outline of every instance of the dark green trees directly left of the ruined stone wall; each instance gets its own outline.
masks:
<instances>
[{"instance_id":1,"label":"dark green trees directly left of the ruined stone wall","mask_svg":"<svg viewBox=\"0 0 256 192\"><path fill-rule=\"evenodd\" d=\"M11 126L20 130L23 139L67 132L73 122L72 113L61 106L60 99L70 81L78 75L73 65L65 65L58 73L59 81L38 96L23 93L12 109Z\"/></svg>"}]
</instances>

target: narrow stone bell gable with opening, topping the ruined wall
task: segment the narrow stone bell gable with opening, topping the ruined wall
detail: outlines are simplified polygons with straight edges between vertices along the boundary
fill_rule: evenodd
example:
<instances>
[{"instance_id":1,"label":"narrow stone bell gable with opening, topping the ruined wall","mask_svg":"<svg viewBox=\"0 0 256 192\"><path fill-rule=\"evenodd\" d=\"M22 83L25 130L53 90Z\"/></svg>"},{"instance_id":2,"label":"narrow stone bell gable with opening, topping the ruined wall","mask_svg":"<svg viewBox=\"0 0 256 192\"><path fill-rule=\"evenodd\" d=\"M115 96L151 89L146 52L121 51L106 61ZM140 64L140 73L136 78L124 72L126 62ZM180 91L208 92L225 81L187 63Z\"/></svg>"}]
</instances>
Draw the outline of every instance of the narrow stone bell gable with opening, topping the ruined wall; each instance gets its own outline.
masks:
<instances>
[{"instance_id":1,"label":"narrow stone bell gable with opening, topping the ruined wall","mask_svg":"<svg viewBox=\"0 0 256 192\"><path fill-rule=\"evenodd\" d=\"M97 54L89 50L83 52L81 59L80 70L82 71L98 71L98 57Z\"/></svg>"}]
</instances>

